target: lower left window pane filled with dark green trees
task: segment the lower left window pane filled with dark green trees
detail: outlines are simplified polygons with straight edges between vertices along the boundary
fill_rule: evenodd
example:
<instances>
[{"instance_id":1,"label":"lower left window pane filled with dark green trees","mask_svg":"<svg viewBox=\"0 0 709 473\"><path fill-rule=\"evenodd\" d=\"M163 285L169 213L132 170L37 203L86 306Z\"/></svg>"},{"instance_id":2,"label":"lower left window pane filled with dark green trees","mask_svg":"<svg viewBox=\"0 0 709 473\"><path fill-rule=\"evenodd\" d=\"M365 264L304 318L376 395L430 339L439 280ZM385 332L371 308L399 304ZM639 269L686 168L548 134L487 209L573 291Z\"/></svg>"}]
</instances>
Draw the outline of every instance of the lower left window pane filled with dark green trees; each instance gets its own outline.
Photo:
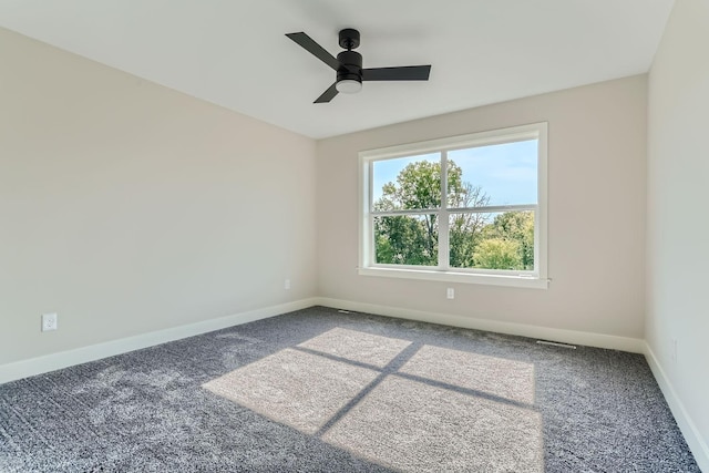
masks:
<instances>
[{"instance_id":1,"label":"lower left window pane filled with dark green trees","mask_svg":"<svg viewBox=\"0 0 709 473\"><path fill-rule=\"evenodd\" d=\"M436 215L374 217L374 260L383 265L439 265Z\"/></svg>"}]
</instances>

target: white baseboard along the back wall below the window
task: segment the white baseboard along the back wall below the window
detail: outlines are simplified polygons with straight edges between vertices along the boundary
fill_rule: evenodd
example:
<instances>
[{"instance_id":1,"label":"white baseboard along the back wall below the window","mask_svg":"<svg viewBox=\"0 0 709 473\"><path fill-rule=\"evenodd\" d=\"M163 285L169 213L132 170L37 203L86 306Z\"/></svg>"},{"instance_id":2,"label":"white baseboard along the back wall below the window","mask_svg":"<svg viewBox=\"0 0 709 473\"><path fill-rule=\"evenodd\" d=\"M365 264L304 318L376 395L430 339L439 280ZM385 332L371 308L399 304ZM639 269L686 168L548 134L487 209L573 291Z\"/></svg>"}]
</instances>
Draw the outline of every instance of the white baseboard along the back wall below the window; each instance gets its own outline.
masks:
<instances>
[{"instance_id":1,"label":"white baseboard along the back wall below the window","mask_svg":"<svg viewBox=\"0 0 709 473\"><path fill-rule=\"evenodd\" d=\"M559 341L571 345L623 350L633 353L645 353L645 341L629 337L616 337L604 333L589 333L575 330L553 329L524 323L501 322L496 320L476 319L472 317L453 316L450 313L424 312L421 310L402 309L399 307L378 306L373 304L353 302L350 300L316 299L320 306L345 309L357 312L374 313L378 316L398 317L422 322L441 323L444 326L466 329L486 330L497 333L516 335L543 340Z\"/></svg>"}]
</instances>

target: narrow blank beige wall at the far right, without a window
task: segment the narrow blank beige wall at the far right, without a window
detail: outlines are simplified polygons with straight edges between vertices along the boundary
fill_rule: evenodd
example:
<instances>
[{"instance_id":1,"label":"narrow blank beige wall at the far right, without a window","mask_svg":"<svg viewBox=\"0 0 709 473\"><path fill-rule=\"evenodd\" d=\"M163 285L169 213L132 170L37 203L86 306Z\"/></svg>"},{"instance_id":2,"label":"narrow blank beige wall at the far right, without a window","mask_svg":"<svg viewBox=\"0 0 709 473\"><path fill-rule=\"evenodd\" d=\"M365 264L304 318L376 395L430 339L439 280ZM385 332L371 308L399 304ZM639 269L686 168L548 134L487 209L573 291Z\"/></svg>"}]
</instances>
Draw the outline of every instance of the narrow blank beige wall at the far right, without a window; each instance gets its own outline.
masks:
<instances>
[{"instance_id":1,"label":"narrow blank beige wall at the far right, without a window","mask_svg":"<svg viewBox=\"0 0 709 473\"><path fill-rule=\"evenodd\" d=\"M647 342L686 410L682 418L693 423L699 441L690 446L705 471L709 471L707 25L708 1L676 2L649 74L646 323ZM677 340L676 357L672 340Z\"/></svg>"}]
</instances>

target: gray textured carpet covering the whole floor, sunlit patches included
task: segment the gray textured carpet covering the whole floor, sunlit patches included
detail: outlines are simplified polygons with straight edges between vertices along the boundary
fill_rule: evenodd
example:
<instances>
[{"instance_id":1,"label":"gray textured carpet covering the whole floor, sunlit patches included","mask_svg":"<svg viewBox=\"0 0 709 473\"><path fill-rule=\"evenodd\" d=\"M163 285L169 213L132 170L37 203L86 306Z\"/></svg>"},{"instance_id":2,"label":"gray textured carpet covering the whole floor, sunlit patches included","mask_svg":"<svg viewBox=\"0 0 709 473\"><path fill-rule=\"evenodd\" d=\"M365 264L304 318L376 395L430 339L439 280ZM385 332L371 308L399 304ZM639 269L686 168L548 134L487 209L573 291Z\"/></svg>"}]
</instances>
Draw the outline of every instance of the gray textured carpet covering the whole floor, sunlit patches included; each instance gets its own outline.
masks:
<instances>
[{"instance_id":1,"label":"gray textured carpet covering the whole floor, sunlit patches included","mask_svg":"<svg viewBox=\"0 0 709 473\"><path fill-rule=\"evenodd\" d=\"M0 472L699 472L643 356L316 307L0 385Z\"/></svg>"}]
</instances>

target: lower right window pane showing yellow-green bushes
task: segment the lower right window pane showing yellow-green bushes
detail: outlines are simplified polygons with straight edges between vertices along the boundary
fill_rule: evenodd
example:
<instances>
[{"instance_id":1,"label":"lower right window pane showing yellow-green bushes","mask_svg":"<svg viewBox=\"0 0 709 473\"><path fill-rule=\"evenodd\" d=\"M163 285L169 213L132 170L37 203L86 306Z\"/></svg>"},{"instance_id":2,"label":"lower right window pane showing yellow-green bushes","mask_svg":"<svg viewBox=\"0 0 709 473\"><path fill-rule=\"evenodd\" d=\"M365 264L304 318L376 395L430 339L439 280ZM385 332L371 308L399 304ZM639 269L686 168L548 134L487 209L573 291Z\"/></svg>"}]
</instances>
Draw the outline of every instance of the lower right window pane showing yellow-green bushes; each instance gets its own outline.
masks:
<instances>
[{"instance_id":1,"label":"lower right window pane showing yellow-green bushes","mask_svg":"<svg viewBox=\"0 0 709 473\"><path fill-rule=\"evenodd\" d=\"M453 268L534 270L534 212L451 214Z\"/></svg>"}]
</instances>

